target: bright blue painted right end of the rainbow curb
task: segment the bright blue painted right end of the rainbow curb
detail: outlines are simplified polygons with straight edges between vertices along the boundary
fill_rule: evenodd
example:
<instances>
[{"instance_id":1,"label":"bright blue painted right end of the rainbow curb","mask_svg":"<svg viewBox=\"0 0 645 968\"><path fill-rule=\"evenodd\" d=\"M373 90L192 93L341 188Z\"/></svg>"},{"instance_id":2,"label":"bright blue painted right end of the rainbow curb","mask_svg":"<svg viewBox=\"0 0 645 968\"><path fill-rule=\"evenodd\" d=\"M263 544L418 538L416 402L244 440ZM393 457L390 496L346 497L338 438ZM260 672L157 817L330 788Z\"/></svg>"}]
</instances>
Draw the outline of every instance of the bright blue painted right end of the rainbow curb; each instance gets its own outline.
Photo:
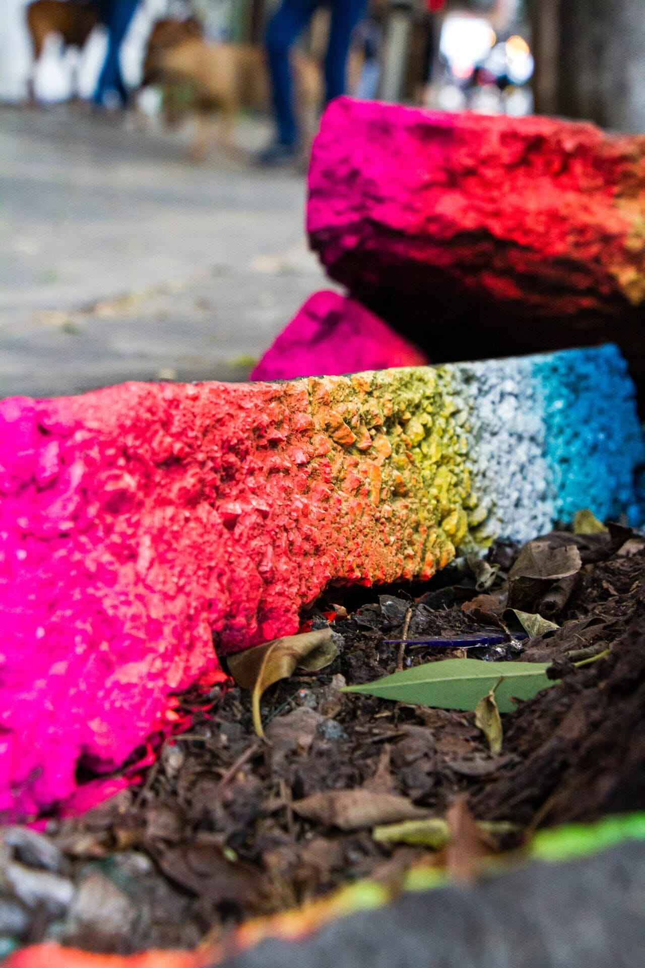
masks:
<instances>
[{"instance_id":1,"label":"bright blue painted right end of the rainbow curb","mask_svg":"<svg viewBox=\"0 0 645 968\"><path fill-rule=\"evenodd\" d=\"M571 349L532 363L557 516L571 521L589 507L601 521L625 512L642 524L645 442L619 349Z\"/></svg>"}]
</instances>

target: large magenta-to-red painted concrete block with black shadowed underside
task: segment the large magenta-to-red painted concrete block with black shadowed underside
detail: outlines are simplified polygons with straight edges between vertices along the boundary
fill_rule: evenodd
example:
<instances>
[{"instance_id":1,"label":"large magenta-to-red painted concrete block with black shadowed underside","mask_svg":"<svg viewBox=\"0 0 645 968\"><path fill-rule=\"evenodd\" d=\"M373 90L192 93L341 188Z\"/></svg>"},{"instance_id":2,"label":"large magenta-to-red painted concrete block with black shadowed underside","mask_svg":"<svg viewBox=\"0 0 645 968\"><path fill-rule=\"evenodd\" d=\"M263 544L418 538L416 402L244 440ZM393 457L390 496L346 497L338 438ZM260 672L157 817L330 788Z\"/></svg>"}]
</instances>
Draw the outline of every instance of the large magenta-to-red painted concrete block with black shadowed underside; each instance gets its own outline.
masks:
<instances>
[{"instance_id":1,"label":"large magenta-to-red painted concrete block with black shadowed underside","mask_svg":"<svg viewBox=\"0 0 645 968\"><path fill-rule=\"evenodd\" d=\"M645 136L345 98L308 185L330 276L433 360L599 338L642 358Z\"/></svg>"}]
</instances>

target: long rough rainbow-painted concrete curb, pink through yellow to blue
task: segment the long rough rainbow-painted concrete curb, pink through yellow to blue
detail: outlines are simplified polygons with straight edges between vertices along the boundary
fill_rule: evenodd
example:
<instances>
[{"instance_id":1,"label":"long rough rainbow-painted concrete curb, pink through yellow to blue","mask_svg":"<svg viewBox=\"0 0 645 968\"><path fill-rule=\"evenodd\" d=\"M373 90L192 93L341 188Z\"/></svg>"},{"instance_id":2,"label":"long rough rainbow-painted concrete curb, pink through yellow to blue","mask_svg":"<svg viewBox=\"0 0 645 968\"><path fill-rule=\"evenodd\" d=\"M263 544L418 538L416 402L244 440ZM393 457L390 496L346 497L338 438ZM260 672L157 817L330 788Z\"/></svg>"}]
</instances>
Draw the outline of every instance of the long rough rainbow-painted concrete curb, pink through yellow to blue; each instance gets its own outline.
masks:
<instances>
[{"instance_id":1,"label":"long rough rainbow-painted concrete curb, pink through yellow to blue","mask_svg":"<svg viewBox=\"0 0 645 968\"><path fill-rule=\"evenodd\" d=\"M612 347L8 398L0 810L122 763L216 650L296 631L330 582L428 578L581 506L633 518L642 460Z\"/></svg>"}]
</instances>

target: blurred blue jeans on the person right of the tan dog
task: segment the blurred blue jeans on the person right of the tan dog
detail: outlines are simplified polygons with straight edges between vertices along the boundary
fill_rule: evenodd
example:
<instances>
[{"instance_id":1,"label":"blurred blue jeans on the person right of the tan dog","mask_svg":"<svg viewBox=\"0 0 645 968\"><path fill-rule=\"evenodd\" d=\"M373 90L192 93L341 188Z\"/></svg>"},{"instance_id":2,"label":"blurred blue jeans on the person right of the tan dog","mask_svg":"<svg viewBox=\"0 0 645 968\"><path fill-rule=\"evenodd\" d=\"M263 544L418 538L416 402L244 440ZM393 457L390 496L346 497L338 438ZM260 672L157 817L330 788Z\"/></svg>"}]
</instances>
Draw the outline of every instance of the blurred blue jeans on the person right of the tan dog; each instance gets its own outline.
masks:
<instances>
[{"instance_id":1,"label":"blurred blue jeans on the person right of the tan dog","mask_svg":"<svg viewBox=\"0 0 645 968\"><path fill-rule=\"evenodd\" d=\"M307 26L316 8L324 4L325 0L282 0L267 30L267 52L273 85L274 109L279 141L282 144L292 145L298 139L289 49ZM367 0L331 0L330 6L332 22L325 56L325 91L328 102L344 93L347 54L352 31L365 14Z\"/></svg>"}]
</instances>

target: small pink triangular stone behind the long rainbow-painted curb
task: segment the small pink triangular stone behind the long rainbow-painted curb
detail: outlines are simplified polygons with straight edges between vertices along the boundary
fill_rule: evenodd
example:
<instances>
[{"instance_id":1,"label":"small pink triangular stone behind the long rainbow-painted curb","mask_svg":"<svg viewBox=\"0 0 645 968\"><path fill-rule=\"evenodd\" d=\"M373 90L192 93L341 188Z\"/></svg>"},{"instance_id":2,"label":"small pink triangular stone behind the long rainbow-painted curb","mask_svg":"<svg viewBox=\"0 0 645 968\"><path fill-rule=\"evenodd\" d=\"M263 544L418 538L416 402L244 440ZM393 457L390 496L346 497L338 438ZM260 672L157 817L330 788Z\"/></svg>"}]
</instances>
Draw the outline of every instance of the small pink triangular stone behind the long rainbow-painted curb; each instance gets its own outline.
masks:
<instances>
[{"instance_id":1,"label":"small pink triangular stone behind the long rainbow-painted curb","mask_svg":"<svg viewBox=\"0 0 645 968\"><path fill-rule=\"evenodd\" d=\"M250 378L337 376L427 362L421 349L356 299L324 290L285 326Z\"/></svg>"}]
</instances>

